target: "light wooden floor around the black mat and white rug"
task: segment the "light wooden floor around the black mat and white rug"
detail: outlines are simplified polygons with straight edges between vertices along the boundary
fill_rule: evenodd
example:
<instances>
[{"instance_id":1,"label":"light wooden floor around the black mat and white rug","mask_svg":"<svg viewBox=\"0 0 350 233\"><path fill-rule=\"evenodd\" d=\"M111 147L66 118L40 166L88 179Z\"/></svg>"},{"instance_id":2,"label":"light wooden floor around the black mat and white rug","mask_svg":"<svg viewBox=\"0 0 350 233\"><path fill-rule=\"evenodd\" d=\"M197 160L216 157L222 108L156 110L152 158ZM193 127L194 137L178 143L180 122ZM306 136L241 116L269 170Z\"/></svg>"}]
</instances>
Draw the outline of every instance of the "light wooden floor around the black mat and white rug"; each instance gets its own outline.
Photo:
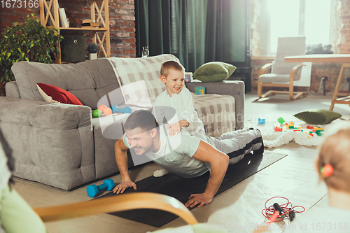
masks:
<instances>
[{"instance_id":1,"label":"light wooden floor around the black mat and white rug","mask_svg":"<svg viewBox=\"0 0 350 233\"><path fill-rule=\"evenodd\" d=\"M271 98L257 100L256 94L246 94L245 119L247 122L257 122L258 118L276 120L280 116L286 121L293 120L293 114L307 108L328 109L331 96L316 96L290 101L286 95L276 95ZM346 105L335 105L334 111L341 113L343 118L350 118L350 108ZM337 120L339 121L339 120ZM316 208L328 204L327 189L323 183L318 183L314 169L316 147L299 146L294 142L279 148L269 148L267 151L288 154L282 160L258 172L215 197L211 204L192 212L204 230L206 227L225 227L228 232L252 232L255 225L263 223L262 209L267 199L274 196L287 197L293 205L302 205L305 209ZM268 156L268 153L265 154ZM146 164L130 171L134 181L152 176L159 167ZM112 176L116 183L120 176ZM86 185L72 191L59 190L36 182L15 178L13 187L33 207L51 206L89 200ZM102 183L97 181L96 184ZM298 217L298 216L297 216ZM296 217L296 218L297 218ZM288 225L288 220L281 222ZM181 219L176 219L165 227L184 225ZM123 232L137 233L158 230L156 227L135 223L108 214L62 220L46 224L48 232Z\"/></svg>"}]
</instances>

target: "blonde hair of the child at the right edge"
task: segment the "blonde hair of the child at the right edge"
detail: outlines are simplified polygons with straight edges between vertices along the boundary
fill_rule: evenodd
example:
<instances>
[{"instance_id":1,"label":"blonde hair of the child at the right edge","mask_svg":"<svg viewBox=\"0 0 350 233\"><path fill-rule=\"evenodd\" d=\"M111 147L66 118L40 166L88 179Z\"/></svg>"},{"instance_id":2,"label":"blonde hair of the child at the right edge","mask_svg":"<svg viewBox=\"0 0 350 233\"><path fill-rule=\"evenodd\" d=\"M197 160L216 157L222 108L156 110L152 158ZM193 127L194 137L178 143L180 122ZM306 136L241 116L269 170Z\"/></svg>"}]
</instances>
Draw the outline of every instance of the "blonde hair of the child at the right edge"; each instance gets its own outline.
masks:
<instances>
[{"instance_id":1,"label":"blonde hair of the child at the right edge","mask_svg":"<svg viewBox=\"0 0 350 233\"><path fill-rule=\"evenodd\" d=\"M331 129L332 134L323 141L316 169L329 188L350 193L350 125L343 122L342 127L336 126L336 128ZM320 173L321 167L325 164L333 167L333 173L328 177Z\"/></svg>"}]
</instances>

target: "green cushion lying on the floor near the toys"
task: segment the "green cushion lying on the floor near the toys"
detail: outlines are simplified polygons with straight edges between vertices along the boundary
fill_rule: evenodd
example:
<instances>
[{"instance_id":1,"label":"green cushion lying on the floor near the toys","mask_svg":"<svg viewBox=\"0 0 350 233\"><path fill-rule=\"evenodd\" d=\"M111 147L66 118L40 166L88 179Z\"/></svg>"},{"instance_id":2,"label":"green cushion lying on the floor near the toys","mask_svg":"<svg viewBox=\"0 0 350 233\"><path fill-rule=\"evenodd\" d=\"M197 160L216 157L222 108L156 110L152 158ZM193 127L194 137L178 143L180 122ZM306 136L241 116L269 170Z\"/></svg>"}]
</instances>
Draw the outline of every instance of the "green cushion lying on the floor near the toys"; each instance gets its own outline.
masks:
<instances>
[{"instance_id":1,"label":"green cushion lying on the floor near the toys","mask_svg":"<svg viewBox=\"0 0 350 233\"><path fill-rule=\"evenodd\" d=\"M294 115L295 118L312 125L325 125L342 117L341 114L324 109L310 109Z\"/></svg>"}]
</instances>

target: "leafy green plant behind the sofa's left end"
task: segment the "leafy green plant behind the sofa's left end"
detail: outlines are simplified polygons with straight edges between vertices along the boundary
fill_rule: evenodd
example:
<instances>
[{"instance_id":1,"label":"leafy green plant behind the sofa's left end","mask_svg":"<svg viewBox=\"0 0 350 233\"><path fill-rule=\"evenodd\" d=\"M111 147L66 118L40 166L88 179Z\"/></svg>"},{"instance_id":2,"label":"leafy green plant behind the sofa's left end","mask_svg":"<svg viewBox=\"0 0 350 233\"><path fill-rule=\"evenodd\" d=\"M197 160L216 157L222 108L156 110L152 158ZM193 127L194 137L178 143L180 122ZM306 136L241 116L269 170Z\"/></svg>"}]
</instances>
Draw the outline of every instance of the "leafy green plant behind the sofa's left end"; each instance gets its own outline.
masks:
<instances>
[{"instance_id":1,"label":"leafy green plant behind the sofa's left end","mask_svg":"<svg viewBox=\"0 0 350 233\"><path fill-rule=\"evenodd\" d=\"M58 29L44 27L34 13L27 15L23 24L13 23L0 37L0 66L3 76L0 83L15 80L11 66L15 62L52 63L50 54L59 53L57 45L62 41Z\"/></svg>"}]
</instances>

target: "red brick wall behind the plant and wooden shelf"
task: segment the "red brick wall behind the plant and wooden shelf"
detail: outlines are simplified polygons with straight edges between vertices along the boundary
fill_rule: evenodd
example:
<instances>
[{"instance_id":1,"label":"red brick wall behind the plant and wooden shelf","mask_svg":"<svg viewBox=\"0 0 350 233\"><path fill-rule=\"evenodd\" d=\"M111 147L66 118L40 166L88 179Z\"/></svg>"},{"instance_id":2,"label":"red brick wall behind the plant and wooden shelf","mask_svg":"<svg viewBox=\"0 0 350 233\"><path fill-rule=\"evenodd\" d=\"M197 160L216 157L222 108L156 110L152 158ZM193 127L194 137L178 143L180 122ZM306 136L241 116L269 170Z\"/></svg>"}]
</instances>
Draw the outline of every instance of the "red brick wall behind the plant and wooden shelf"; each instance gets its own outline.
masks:
<instances>
[{"instance_id":1,"label":"red brick wall behind the plant and wooden shelf","mask_svg":"<svg viewBox=\"0 0 350 233\"><path fill-rule=\"evenodd\" d=\"M24 2L24 1L22 1ZM90 3L88 0L59 0L59 7L66 11L70 27L78 27L82 20L90 19ZM101 6L102 1L97 1ZM12 27L13 22L24 22L27 14L40 16L38 8L1 8L0 31ZM109 0L109 26L111 40L111 57L136 57L134 0ZM81 33L81 32L80 32ZM62 32L63 34L63 32ZM69 31L69 34L79 34ZM102 36L100 36L102 38ZM87 35L86 43L92 43Z\"/></svg>"}]
</instances>

